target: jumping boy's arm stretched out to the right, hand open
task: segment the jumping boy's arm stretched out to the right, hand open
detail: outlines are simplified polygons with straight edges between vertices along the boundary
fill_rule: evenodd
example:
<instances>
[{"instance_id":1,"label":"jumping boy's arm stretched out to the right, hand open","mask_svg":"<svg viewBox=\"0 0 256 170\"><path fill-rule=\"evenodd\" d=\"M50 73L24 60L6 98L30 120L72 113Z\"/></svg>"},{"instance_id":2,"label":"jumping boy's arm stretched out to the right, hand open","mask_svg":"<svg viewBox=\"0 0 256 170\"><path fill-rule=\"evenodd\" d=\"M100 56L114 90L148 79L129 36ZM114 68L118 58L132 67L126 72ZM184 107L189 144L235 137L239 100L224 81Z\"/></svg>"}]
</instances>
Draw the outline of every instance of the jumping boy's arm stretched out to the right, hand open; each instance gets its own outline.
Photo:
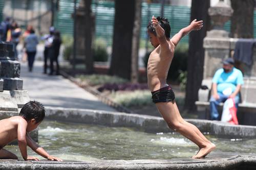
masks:
<instances>
[{"instance_id":1,"label":"jumping boy's arm stretched out to the right, hand open","mask_svg":"<svg viewBox=\"0 0 256 170\"><path fill-rule=\"evenodd\" d=\"M203 27L203 21L197 21L197 19L194 19L189 26L181 29L177 34L175 34L173 36L172 39L170 39L174 45L176 46L179 41L181 40L182 37L184 37L185 35L187 35L190 31L193 30L200 30Z\"/></svg>"}]
</instances>

